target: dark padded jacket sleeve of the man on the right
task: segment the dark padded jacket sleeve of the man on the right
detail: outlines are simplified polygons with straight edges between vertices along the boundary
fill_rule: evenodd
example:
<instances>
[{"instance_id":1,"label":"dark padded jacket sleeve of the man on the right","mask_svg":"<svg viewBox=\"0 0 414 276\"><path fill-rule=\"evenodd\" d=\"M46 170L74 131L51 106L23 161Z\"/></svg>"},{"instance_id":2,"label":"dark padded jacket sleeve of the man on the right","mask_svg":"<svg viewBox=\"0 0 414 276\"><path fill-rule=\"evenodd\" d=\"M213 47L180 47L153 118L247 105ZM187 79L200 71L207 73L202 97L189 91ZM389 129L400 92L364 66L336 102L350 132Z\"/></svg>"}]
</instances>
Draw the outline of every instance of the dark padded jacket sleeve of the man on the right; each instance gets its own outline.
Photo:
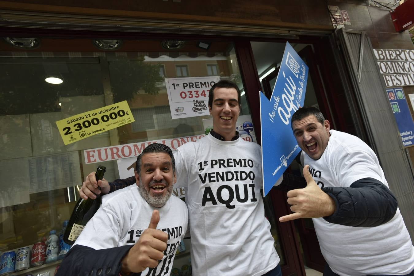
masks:
<instances>
[{"instance_id":1,"label":"dark padded jacket sleeve of the man on the right","mask_svg":"<svg viewBox=\"0 0 414 276\"><path fill-rule=\"evenodd\" d=\"M344 226L374 227L390 221L397 211L397 199L379 180L363 178L350 187L324 187L334 199L336 211L324 217Z\"/></svg>"}]
</instances>

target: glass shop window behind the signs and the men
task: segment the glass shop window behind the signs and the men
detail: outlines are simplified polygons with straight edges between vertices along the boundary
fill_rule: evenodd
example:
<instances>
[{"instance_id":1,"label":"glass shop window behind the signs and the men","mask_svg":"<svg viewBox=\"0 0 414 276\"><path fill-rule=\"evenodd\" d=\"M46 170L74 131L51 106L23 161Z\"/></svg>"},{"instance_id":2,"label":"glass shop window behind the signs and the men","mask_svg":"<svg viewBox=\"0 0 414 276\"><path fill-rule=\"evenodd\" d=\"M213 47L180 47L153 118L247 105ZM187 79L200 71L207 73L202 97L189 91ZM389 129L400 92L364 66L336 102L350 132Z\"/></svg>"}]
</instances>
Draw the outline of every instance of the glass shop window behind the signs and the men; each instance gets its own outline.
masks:
<instances>
[{"instance_id":1,"label":"glass shop window behind the signs and the men","mask_svg":"<svg viewBox=\"0 0 414 276\"><path fill-rule=\"evenodd\" d=\"M0 251L59 234L98 165L106 166L106 179L119 178L117 161L87 164L85 149L205 135L209 115L171 118L165 78L234 81L240 115L250 114L233 43L213 41L209 50L196 43L166 49L162 41L125 40L117 50L100 50L91 39L43 39L34 49L0 43ZM199 93L208 97L208 90ZM56 121L120 101L135 122L64 144Z\"/></svg>"}]
</instances>

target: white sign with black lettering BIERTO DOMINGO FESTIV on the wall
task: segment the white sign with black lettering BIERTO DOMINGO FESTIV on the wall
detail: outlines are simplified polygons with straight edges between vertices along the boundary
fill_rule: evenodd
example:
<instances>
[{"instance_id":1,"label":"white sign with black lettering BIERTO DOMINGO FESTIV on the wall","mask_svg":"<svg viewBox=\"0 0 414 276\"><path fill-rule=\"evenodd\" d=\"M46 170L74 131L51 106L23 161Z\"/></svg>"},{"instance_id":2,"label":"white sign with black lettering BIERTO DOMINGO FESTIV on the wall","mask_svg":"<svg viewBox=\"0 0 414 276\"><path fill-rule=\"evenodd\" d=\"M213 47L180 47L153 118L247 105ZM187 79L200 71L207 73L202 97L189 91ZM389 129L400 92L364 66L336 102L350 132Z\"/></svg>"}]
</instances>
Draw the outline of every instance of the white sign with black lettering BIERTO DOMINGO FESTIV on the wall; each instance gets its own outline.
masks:
<instances>
[{"instance_id":1,"label":"white sign with black lettering BIERTO DOMINGO FESTIV on the wall","mask_svg":"<svg viewBox=\"0 0 414 276\"><path fill-rule=\"evenodd\" d=\"M414 50L374 49L385 85L414 85Z\"/></svg>"}]
</instances>

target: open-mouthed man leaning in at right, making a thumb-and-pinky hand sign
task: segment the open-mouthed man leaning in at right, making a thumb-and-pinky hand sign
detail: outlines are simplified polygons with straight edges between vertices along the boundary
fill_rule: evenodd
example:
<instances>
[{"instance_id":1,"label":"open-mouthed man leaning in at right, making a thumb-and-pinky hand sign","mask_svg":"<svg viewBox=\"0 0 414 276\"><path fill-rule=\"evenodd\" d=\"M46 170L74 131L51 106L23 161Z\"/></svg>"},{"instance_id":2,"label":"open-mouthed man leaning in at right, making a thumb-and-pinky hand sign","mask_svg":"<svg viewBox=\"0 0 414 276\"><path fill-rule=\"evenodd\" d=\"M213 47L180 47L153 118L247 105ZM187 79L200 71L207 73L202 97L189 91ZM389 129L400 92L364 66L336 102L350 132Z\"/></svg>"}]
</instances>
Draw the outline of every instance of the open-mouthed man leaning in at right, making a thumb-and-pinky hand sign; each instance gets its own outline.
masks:
<instances>
[{"instance_id":1,"label":"open-mouthed man leaning in at right, making a thumb-and-pinky hand sign","mask_svg":"<svg viewBox=\"0 0 414 276\"><path fill-rule=\"evenodd\" d=\"M414 275L414 247L377 156L361 139L330 130L313 107L292 115L307 186L291 190L293 214L313 218L324 276Z\"/></svg>"}]
</instances>

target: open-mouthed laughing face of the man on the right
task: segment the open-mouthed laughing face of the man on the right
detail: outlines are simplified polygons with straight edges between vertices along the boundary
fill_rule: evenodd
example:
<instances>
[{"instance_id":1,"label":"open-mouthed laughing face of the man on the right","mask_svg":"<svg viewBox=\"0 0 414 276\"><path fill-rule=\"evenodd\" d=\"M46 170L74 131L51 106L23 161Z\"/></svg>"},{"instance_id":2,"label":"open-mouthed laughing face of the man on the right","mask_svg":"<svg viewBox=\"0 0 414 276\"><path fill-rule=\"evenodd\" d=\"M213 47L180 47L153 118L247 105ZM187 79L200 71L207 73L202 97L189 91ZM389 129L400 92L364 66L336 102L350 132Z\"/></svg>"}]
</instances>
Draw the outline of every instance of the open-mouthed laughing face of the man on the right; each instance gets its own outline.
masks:
<instances>
[{"instance_id":1,"label":"open-mouthed laughing face of the man on the right","mask_svg":"<svg viewBox=\"0 0 414 276\"><path fill-rule=\"evenodd\" d=\"M321 124L315 116L310 115L292 122L292 129L301 149L310 158L318 160L329 142L329 121L325 120Z\"/></svg>"}]
</instances>

